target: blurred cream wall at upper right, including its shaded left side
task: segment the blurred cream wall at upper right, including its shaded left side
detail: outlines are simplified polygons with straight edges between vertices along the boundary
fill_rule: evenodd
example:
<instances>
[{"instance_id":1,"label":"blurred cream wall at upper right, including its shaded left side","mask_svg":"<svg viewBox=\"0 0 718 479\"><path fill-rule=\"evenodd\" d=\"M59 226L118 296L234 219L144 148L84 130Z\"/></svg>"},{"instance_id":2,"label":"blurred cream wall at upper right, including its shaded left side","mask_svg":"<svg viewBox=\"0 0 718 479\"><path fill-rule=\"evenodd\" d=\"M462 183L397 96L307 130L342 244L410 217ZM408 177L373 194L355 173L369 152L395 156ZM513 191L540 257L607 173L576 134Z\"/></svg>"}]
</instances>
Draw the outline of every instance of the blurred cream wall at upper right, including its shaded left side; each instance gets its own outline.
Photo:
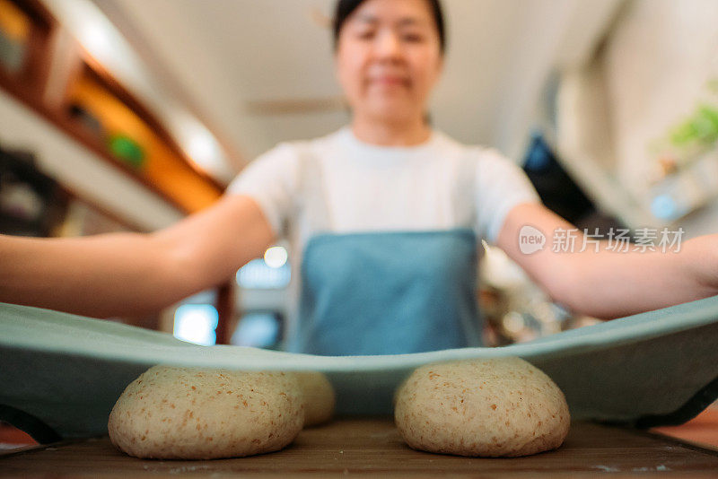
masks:
<instances>
[{"instance_id":1,"label":"blurred cream wall at upper right, including its shaded left side","mask_svg":"<svg viewBox=\"0 0 718 479\"><path fill-rule=\"evenodd\" d=\"M565 72L559 145L569 169L633 227L661 225L649 213L657 158L651 145L687 118L718 78L718 2L626 4L600 57ZM718 231L718 205L676 222L687 236Z\"/></svg>"}]
</instances>

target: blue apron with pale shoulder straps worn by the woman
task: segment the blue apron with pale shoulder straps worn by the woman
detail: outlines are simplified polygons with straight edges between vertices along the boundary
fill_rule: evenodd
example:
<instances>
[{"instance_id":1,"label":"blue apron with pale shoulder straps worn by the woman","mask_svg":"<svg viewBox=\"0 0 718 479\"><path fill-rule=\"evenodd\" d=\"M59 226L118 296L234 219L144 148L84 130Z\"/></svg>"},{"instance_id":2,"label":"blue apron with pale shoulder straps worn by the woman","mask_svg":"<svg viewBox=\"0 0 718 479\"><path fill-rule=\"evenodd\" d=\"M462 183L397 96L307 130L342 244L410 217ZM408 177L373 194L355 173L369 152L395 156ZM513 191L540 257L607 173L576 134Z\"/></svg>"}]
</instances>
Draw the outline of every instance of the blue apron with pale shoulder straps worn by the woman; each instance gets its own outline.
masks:
<instances>
[{"instance_id":1,"label":"blue apron with pale shoulder straps worn by the woman","mask_svg":"<svg viewBox=\"0 0 718 479\"><path fill-rule=\"evenodd\" d=\"M298 213L311 231L289 351L400 354L481 344L473 230L332 233L319 161L304 153L302 169ZM461 175L471 183L473 177L473 171ZM470 191L459 186L458 192ZM462 201L470 205L473 196ZM470 211L462 216L467 222Z\"/></svg>"}]
</instances>

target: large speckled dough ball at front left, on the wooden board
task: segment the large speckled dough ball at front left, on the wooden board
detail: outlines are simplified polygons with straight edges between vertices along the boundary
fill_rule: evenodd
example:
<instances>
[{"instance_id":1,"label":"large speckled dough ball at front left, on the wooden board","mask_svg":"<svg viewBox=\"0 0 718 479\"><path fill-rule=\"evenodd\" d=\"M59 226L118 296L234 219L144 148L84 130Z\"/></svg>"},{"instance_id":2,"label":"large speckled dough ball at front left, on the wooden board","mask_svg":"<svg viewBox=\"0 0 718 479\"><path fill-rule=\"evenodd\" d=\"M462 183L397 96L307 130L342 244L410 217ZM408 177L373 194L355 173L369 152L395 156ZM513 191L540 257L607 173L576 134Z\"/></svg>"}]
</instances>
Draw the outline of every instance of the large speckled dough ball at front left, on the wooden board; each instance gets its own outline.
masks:
<instances>
[{"instance_id":1,"label":"large speckled dough ball at front left, on the wooden board","mask_svg":"<svg viewBox=\"0 0 718 479\"><path fill-rule=\"evenodd\" d=\"M276 451L304 422L293 374L154 366L109 414L109 439L130 456L213 459Z\"/></svg>"}]
</instances>

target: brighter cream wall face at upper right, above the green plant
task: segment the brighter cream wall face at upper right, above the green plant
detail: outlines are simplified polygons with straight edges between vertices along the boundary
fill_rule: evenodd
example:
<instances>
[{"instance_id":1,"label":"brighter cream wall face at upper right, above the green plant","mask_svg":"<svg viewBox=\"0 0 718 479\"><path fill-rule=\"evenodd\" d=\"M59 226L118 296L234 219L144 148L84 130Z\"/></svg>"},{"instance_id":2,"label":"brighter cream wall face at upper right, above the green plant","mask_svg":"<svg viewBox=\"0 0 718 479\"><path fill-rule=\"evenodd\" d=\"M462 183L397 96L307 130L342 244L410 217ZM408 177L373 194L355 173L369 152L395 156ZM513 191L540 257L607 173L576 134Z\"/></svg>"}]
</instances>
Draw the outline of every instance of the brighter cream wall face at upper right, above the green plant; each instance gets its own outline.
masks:
<instances>
[{"instance_id":1,"label":"brighter cream wall face at upper right, above the green plant","mask_svg":"<svg viewBox=\"0 0 718 479\"><path fill-rule=\"evenodd\" d=\"M603 59L617 176L638 195L655 158L649 144L690 115L718 78L718 2L640 0L626 9Z\"/></svg>"}]
</instances>

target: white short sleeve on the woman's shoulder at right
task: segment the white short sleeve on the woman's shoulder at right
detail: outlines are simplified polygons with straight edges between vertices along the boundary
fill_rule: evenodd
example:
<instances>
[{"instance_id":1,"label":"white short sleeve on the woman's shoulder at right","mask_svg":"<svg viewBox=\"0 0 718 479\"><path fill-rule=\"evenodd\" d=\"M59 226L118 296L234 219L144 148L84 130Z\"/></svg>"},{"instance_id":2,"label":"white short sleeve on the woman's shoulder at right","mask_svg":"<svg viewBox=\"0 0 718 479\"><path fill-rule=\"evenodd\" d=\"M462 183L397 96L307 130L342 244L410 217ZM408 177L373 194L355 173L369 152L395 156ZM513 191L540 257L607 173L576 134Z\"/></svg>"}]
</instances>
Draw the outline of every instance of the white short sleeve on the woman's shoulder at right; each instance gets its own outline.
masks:
<instances>
[{"instance_id":1,"label":"white short sleeve on the woman's shoulder at right","mask_svg":"<svg viewBox=\"0 0 718 479\"><path fill-rule=\"evenodd\" d=\"M477 232L495 244L506 215L521 203L540 203L526 173L492 149L479 149L476 181Z\"/></svg>"}]
</instances>

